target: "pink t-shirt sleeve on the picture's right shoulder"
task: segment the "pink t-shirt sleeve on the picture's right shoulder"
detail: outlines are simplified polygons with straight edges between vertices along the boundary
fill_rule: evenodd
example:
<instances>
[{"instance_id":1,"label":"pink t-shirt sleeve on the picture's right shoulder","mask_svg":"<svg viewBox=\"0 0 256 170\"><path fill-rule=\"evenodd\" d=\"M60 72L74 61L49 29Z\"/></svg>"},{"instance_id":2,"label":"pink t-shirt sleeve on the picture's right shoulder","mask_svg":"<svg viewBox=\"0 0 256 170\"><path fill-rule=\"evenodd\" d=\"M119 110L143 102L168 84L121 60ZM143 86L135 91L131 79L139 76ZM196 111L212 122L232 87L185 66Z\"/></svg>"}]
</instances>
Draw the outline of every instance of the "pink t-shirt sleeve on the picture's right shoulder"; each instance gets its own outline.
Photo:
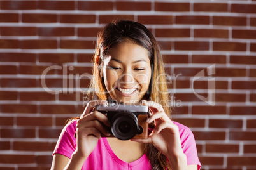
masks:
<instances>
[{"instance_id":1,"label":"pink t-shirt sleeve on the picture's right shoulder","mask_svg":"<svg viewBox=\"0 0 256 170\"><path fill-rule=\"evenodd\" d=\"M196 141L194 134L186 126L179 126L181 147L183 148L184 154L187 156L187 164L197 164L197 169L201 168L201 163L197 155Z\"/></svg>"}]
</instances>

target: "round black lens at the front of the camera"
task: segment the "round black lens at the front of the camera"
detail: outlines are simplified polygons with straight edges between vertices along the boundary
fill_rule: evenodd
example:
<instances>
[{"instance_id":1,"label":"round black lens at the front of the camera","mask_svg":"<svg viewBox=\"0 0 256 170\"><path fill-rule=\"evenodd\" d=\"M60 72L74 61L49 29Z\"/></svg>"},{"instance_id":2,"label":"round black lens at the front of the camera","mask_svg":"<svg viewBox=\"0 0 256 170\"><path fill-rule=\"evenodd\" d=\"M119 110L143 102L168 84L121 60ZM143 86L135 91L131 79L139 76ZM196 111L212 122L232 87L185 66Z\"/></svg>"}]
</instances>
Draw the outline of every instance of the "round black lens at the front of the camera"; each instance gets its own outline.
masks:
<instances>
[{"instance_id":1,"label":"round black lens at the front of the camera","mask_svg":"<svg viewBox=\"0 0 256 170\"><path fill-rule=\"evenodd\" d=\"M131 112L120 112L111 120L112 134L120 140L129 140L138 132L138 118Z\"/></svg>"}]
</instances>

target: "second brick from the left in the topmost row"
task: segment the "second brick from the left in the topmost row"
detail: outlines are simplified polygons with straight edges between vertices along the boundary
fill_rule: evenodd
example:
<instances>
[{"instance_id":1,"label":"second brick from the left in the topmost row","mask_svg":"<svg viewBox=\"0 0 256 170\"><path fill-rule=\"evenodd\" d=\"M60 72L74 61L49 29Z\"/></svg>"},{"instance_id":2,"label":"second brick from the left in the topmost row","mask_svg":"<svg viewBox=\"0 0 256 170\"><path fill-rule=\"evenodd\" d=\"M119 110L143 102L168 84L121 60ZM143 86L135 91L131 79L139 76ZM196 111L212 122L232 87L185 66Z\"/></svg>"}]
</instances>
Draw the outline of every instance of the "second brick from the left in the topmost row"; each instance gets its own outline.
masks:
<instances>
[{"instance_id":1,"label":"second brick from the left in the topmost row","mask_svg":"<svg viewBox=\"0 0 256 170\"><path fill-rule=\"evenodd\" d=\"M40 10L75 10L75 1L38 1Z\"/></svg>"}]
</instances>

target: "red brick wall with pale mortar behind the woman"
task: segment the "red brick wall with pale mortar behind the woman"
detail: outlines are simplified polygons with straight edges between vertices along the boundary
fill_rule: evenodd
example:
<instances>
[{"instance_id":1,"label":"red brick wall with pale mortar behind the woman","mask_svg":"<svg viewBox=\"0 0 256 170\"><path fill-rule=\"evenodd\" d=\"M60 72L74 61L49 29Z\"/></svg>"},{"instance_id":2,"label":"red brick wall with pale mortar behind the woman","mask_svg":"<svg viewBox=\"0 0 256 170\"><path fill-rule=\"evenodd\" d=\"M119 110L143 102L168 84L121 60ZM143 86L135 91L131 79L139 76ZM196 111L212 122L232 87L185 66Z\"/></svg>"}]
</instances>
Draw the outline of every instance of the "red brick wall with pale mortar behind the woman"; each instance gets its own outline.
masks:
<instances>
[{"instance_id":1,"label":"red brick wall with pale mortar behind the woman","mask_svg":"<svg viewBox=\"0 0 256 170\"><path fill-rule=\"evenodd\" d=\"M202 169L256 169L255 0L1 0L0 169L49 169L66 119L83 111L97 31L114 18L160 42L173 119L194 132Z\"/></svg>"}]
</instances>

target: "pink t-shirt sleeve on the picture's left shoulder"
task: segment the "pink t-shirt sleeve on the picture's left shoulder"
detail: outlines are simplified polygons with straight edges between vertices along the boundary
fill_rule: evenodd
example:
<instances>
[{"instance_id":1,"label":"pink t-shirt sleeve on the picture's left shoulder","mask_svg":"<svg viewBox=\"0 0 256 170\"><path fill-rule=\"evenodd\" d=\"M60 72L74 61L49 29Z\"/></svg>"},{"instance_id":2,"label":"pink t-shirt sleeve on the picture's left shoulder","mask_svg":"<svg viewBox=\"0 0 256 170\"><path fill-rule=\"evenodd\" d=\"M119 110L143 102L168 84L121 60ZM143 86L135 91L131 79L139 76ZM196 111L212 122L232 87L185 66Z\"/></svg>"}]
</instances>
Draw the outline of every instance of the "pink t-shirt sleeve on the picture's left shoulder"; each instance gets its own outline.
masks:
<instances>
[{"instance_id":1,"label":"pink t-shirt sleeve on the picture's left shoulder","mask_svg":"<svg viewBox=\"0 0 256 170\"><path fill-rule=\"evenodd\" d=\"M69 122L60 133L59 140L53 151L54 154L61 154L69 159L76 149L76 138L74 137L76 131L76 121Z\"/></svg>"}]
</instances>

